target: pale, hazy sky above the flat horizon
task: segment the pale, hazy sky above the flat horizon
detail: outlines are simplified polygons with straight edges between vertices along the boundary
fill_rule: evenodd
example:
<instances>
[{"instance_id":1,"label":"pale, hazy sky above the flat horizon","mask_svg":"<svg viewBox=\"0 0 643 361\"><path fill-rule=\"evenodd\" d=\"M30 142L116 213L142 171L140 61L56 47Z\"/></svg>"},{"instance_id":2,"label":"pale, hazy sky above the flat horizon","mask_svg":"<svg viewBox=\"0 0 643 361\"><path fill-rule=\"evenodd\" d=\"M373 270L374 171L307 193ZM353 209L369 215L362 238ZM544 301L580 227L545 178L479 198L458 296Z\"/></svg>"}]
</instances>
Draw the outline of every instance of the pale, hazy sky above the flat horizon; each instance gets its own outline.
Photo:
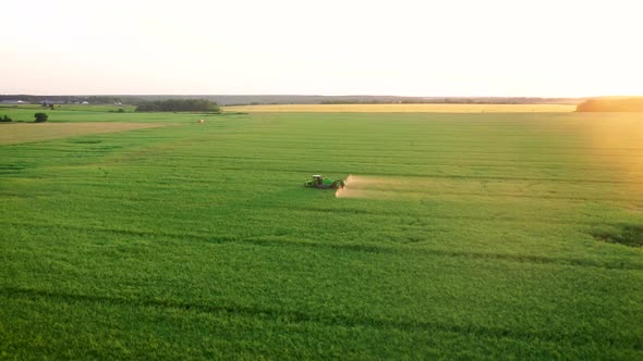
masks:
<instances>
[{"instance_id":1,"label":"pale, hazy sky above the flat horizon","mask_svg":"<svg viewBox=\"0 0 643 361\"><path fill-rule=\"evenodd\" d=\"M0 94L643 96L638 2L8 0Z\"/></svg>"}]
</instances>

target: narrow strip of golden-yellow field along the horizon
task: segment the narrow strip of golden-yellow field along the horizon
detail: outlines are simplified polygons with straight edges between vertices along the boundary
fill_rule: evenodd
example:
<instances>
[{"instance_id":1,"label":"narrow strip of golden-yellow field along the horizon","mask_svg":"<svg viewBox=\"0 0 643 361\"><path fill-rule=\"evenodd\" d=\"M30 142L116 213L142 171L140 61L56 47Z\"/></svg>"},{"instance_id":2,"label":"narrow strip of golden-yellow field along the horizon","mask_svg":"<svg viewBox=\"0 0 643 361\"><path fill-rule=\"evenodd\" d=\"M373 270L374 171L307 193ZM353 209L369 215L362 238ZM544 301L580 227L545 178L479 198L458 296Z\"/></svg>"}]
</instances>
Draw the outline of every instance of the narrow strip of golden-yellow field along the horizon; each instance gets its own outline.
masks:
<instances>
[{"instance_id":1,"label":"narrow strip of golden-yellow field along the horizon","mask_svg":"<svg viewBox=\"0 0 643 361\"><path fill-rule=\"evenodd\" d=\"M266 104L225 107L234 112L295 113L558 113L573 112L570 104Z\"/></svg>"}]
</instances>

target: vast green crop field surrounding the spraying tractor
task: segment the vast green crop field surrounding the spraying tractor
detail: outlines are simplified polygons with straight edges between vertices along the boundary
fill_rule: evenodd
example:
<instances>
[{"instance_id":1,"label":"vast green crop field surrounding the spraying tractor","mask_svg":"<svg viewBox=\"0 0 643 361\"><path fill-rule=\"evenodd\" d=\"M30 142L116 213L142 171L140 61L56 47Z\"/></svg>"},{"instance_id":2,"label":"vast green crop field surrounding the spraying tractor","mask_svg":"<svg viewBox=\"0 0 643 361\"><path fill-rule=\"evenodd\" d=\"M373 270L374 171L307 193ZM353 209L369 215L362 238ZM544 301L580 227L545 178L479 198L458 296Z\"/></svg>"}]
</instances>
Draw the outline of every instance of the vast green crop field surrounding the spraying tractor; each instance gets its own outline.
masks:
<instances>
[{"instance_id":1,"label":"vast green crop field surrounding the spraying tractor","mask_svg":"<svg viewBox=\"0 0 643 361\"><path fill-rule=\"evenodd\" d=\"M640 115L48 113L167 126L0 145L0 358L643 359Z\"/></svg>"}]
</instances>

